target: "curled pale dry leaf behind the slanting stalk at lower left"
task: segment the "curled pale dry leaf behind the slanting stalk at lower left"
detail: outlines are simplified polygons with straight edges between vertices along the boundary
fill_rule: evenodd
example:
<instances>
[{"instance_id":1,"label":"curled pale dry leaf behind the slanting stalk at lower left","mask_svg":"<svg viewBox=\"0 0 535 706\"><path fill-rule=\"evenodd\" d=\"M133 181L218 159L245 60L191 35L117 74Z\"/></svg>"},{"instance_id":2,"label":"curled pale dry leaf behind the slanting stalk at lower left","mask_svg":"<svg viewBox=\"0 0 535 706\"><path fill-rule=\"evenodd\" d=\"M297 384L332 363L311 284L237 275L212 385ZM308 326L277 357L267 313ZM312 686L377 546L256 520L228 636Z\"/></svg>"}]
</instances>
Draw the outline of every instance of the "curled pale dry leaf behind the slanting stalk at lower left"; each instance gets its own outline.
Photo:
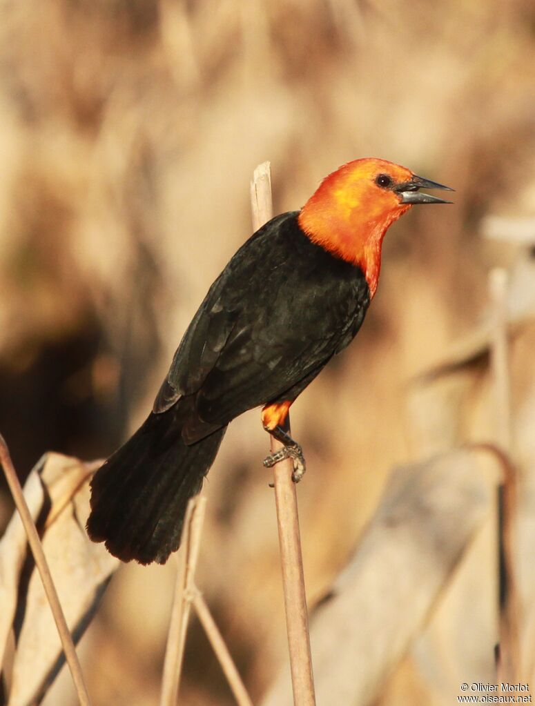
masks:
<instances>
[{"instance_id":1,"label":"curled pale dry leaf behind the slanting stalk at lower left","mask_svg":"<svg viewBox=\"0 0 535 706\"><path fill-rule=\"evenodd\" d=\"M68 626L75 640L87 626L106 580L119 561L85 534L89 511L89 479L96 464L49 453L32 470L25 496L37 527ZM28 553L20 518L14 515L0 543L5 599L0 638L5 645L11 625L16 652L8 706L25 706L42 698L64 656L40 576Z\"/></svg>"}]
</instances>

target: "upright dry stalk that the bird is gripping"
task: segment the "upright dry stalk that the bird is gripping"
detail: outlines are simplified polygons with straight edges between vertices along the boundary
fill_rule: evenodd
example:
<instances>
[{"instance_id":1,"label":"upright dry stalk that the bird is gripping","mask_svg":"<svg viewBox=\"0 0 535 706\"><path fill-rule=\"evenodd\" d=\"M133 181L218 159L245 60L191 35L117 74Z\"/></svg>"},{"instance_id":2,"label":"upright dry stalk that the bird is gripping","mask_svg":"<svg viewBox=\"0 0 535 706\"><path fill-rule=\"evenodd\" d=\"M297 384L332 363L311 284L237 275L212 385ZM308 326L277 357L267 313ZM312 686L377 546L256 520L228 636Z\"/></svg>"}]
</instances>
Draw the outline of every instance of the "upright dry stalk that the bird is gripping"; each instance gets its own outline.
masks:
<instances>
[{"instance_id":1,"label":"upright dry stalk that the bird is gripping","mask_svg":"<svg viewBox=\"0 0 535 706\"><path fill-rule=\"evenodd\" d=\"M256 167L251 182L251 205L255 230L272 217L270 163ZM290 433L289 417L285 431ZM271 437L271 450L282 448L282 443ZM301 535L297 513L297 496L291 474L294 470L291 459L285 459L273 467L277 525L282 565L282 584L286 626L290 653L291 685L296 706L314 706L314 679L310 635L308 633L308 610L306 607Z\"/></svg>"}]
</instances>

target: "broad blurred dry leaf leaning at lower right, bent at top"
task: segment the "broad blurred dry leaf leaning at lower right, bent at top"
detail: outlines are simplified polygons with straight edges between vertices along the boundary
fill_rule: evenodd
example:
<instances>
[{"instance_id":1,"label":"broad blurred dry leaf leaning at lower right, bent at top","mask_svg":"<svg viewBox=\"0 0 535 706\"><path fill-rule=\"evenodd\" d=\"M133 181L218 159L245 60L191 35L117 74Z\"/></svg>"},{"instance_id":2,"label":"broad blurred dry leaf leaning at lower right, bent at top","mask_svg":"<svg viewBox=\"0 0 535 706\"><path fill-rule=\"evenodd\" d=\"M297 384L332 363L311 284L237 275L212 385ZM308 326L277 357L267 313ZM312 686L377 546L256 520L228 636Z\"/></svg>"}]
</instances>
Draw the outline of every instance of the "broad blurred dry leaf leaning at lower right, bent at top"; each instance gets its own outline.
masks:
<instances>
[{"instance_id":1,"label":"broad blurred dry leaf leaning at lower right, bent at top","mask_svg":"<svg viewBox=\"0 0 535 706\"><path fill-rule=\"evenodd\" d=\"M318 703L377 698L391 669L421 632L490 508L481 469L498 462L455 451L399 467L368 530L332 591L313 614ZM291 703L284 670L263 706Z\"/></svg>"}]
</instances>

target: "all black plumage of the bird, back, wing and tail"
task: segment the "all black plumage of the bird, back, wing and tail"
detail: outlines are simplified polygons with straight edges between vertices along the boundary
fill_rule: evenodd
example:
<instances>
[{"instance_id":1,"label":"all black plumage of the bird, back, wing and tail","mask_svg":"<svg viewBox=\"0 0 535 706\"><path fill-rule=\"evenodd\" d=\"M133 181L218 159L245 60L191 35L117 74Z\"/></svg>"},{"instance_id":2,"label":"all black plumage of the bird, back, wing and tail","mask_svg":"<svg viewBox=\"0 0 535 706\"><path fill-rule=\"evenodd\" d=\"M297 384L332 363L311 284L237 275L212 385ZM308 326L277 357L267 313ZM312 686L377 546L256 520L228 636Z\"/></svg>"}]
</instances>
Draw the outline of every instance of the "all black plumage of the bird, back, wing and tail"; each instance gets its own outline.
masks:
<instances>
[{"instance_id":1,"label":"all black plumage of the bird, back, wing and tail","mask_svg":"<svg viewBox=\"0 0 535 706\"><path fill-rule=\"evenodd\" d=\"M124 561L166 561L227 424L295 400L359 330L370 301L361 269L313 244L298 215L273 218L236 252L150 416L95 474L88 532Z\"/></svg>"}]
</instances>

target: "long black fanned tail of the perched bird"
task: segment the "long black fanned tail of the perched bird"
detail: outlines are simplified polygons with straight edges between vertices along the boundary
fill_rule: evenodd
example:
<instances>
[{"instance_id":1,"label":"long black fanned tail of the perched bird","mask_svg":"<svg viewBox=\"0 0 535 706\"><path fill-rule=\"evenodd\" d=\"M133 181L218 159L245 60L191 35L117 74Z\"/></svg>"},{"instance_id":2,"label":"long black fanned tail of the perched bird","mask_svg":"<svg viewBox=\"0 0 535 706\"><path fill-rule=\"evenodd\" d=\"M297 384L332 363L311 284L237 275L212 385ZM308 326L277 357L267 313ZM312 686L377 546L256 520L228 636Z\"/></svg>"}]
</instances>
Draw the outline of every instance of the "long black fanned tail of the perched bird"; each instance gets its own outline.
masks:
<instances>
[{"instance_id":1,"label":"long black fanned tail of the perched bird","mask_svg":"<svg viewBox=\"0 0 535 706\"><path fill-rule=\"evenodd\" d=\"M188 412L179 401L151 413L91 481L88 534L122 561L165 563L179 548L188 500L203 486L227 429L186 445Z\"/></svg>"}]
</instances>

